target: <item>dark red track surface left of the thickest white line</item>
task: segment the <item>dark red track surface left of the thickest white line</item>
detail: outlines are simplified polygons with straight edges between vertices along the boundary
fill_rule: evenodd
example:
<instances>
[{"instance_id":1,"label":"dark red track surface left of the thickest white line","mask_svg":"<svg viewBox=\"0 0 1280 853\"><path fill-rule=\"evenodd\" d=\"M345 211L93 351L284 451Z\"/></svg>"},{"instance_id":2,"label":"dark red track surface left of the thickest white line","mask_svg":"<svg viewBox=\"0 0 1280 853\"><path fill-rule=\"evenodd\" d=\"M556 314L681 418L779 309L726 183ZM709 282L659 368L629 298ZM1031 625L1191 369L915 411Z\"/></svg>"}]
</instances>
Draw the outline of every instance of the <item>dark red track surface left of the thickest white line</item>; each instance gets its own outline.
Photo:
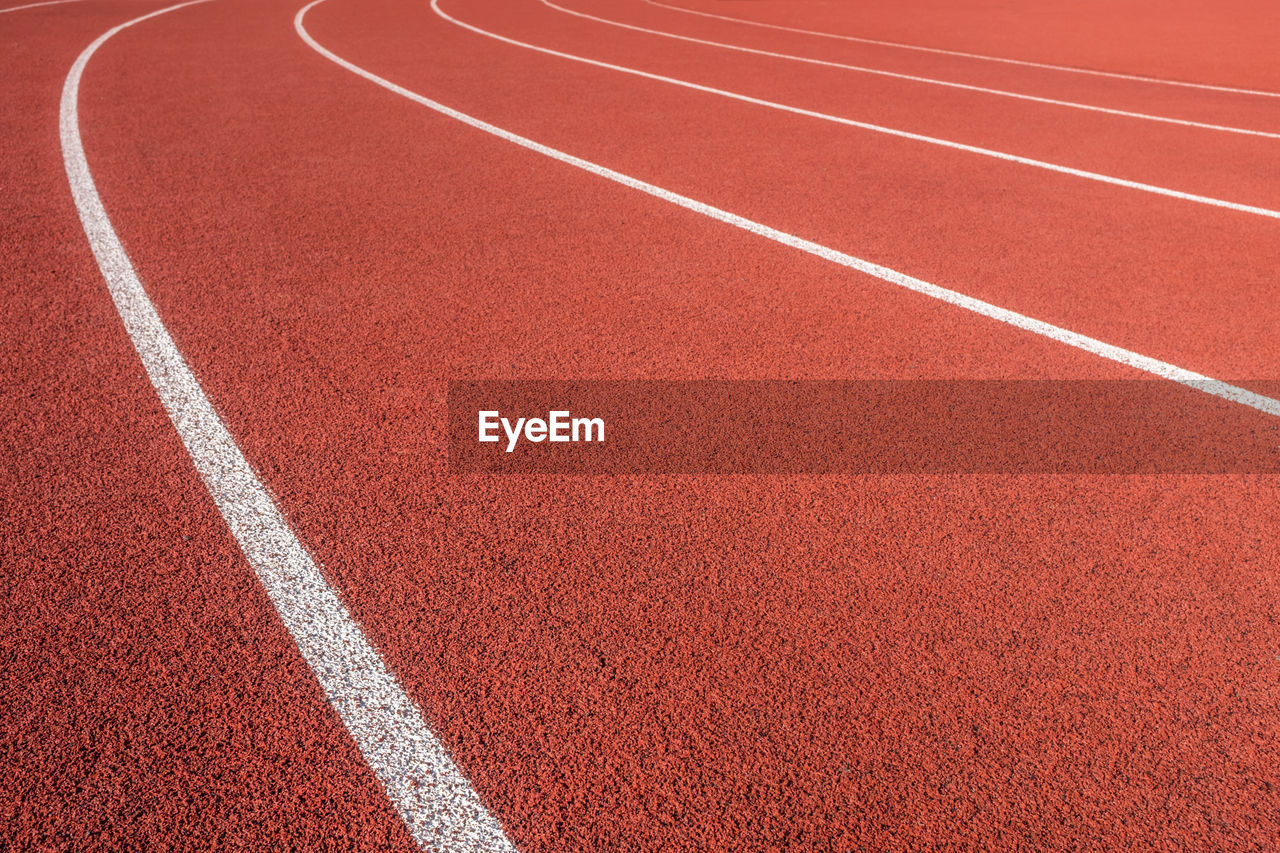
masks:
<instances>
[{"instance_id":1,"label":"dark red track surface left of the thickest white line","mask_svg":"<svg viewBox=\"0 0 1280 853\"><path fill-rule=\"evenodd\" d=\"M68 192L63 79L161 5L0 17L0 845L411 849L178 442Z\"/></svg>"}]
</instances>

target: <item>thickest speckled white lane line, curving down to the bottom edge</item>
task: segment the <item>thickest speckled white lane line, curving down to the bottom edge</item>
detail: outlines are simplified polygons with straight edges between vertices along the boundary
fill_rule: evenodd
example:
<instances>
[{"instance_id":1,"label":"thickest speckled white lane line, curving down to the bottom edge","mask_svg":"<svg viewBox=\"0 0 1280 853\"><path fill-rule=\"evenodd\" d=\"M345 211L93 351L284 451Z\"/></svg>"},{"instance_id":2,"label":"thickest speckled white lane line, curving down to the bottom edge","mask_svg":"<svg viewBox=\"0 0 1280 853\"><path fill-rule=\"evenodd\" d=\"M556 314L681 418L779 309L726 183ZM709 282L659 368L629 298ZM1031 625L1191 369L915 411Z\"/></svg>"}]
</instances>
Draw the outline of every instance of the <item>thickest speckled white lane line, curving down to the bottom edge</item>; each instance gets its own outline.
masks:
<instances>
[{"instance_id":1,"label":"thickest speckled white lane line, curving down to the bottom edge","mask_svg":"<svg viewBox=\"0 0 1280 853\"><path fill-rule=\"evenodd\" d=\"M84 49L67 76L60 114L63 160L84 233L129 339L205 488L413 839L428 850L512 852L502 827L289 529L218 418L138 280L90 173L77 115L81 76L90 58L127 27L206 1L180 3L109 29Z\"/></svg>"}]
</instances>

